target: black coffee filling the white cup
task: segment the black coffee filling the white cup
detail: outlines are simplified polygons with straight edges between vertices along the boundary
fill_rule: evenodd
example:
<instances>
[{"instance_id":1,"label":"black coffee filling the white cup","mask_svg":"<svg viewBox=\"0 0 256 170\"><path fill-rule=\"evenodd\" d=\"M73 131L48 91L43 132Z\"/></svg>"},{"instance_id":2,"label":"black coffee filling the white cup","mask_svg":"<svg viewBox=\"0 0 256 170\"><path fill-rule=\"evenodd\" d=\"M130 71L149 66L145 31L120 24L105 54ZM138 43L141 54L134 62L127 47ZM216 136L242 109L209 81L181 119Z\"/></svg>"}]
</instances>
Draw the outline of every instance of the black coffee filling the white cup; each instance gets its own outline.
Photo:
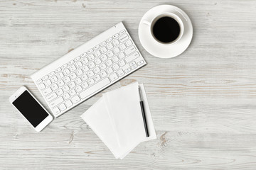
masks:
<instances>
[{"instance_id":1,"label":"black coffee filling the white cup","mask_svg":"<svg viewBox=\"0 0 256 170\"><path fill-rule=\"evenodd\" d=\"M168 43L178 38L181 28L174 18L164 16L156 21L152 30L157 40Z\"/></svg>"}]
</instances>

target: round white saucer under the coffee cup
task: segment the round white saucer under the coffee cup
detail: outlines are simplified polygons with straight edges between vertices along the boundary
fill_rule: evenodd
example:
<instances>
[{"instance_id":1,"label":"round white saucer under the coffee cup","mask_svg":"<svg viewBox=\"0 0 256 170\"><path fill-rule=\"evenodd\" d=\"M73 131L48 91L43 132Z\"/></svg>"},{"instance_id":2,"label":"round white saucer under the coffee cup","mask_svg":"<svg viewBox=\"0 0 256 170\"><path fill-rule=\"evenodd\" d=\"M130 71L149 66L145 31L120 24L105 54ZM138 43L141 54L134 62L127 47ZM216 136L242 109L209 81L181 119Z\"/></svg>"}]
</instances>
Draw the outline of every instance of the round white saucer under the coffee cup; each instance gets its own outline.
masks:
<instances>
[{"instance_id":1,"label":"round white saucer under the coffee cup","mask_svg":"<svg viewBox=\"0 0 256 170\"><path fill-rule=\"evenodd\" d=\"M175 13L181 20L184 25L183 36L177 42L171 45L161 45L156 43L154 38L151 35L149 26L143 23L144 20L151 21L156 16L159 16L161 13ZM151 55L154 55L159 58L171 58L181 55L182 52L186 50L190 44L193 36L193 26L191 20L188 18L187 14L182 11L180 8L171 5L161 5L151 8L147 11L142 20L139 23L139 40L142 43L142 46L149 52Z\"/></svg>"}]
</instances>

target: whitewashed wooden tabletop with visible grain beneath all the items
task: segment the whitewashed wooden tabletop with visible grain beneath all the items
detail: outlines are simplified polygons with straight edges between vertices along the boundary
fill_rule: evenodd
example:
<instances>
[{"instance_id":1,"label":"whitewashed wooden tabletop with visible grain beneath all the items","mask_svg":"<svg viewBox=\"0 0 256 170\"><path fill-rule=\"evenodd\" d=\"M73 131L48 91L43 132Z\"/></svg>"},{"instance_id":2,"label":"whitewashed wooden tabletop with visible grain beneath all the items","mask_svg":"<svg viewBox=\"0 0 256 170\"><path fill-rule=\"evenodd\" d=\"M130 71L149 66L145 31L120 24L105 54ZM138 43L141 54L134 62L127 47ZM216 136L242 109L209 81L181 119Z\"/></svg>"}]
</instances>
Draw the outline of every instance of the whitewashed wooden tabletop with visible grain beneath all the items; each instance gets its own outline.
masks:
<instances>
[{"instance_id":1,"label":"whitewashed wooden tabletop with visible grain beneath all the items","mask_svg":"<svg viewBox=\"0 0 256 170\"><path fill-rule=\"evenodd\" d=\"M193 23L186 52L161 60L138 39L144 13L182 8ZM157 140L116 160L80 118L102 93L34 131L8 101L30 75L124 21L149 63L105 91L144 83ZM1 1L0 169L255 169L256 1ZM105 92L103 91L103 92Z\"/></svg>"}]
</instances>

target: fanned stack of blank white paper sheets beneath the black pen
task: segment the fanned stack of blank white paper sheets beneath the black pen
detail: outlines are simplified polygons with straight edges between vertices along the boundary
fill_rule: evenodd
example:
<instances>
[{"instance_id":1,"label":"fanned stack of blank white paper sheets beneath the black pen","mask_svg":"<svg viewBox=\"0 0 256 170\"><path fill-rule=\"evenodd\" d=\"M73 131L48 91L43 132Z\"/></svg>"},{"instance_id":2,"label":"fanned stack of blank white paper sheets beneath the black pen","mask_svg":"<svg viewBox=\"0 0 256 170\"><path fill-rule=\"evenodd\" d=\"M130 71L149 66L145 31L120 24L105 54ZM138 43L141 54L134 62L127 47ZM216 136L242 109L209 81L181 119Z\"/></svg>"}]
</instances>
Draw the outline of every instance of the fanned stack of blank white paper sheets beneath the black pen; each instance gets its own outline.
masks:
<instances>
[{"instance_id":1,"label":"fanned stack of blank white paper sheets beneath the black pen","mask_svg":"<svg viewBox=\"0 0 256 170\"><path fill-rule=\"evenodd\" d=\"M138 87L142 91L149 137L146 137L144 129ZM115 158L123 159L140 142L156 139L143 84L129 84L103 94L81 118L100 137Z\"/></svg>"}]
</instances>

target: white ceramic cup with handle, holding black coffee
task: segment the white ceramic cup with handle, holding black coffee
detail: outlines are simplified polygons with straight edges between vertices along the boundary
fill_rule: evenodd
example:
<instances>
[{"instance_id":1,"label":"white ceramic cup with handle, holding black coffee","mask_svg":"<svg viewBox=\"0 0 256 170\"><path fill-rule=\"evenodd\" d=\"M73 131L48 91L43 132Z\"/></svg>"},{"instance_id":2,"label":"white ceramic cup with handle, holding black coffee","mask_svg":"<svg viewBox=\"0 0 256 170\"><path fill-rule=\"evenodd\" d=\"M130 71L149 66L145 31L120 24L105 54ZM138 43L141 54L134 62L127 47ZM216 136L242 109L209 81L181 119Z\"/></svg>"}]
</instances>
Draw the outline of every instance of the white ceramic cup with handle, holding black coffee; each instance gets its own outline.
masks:
<instances>
[{"instance_id":1,"label":"white ceramic cup with handle, holding black coffee","mask_svg":"<svg viewBox=\"0 0 256 170\"><path fill-rule=\"evenodd\" d=\"M153 33L153 27L154 27L154 24L156 23L156 21L158 21L160 18L163 18L165 16L174 18L178 22L178 25L180 27L180 33L179 33L178 37L171 42L161 42L156 39L156 37L154 36L154 33ZM144 21L142 21L142 23L144 23L146 26L149 27L151 37L154 38L156 43L160 43L161 45L172 45L172 44L178 42L178 40L180 40L181 37L183 36L183 32L184 32L183 22L182 22L181 18L179 18L175 13L161 13L158 16L154 17L151 21L144 20Z\"/></svg>"}]
</instances>

